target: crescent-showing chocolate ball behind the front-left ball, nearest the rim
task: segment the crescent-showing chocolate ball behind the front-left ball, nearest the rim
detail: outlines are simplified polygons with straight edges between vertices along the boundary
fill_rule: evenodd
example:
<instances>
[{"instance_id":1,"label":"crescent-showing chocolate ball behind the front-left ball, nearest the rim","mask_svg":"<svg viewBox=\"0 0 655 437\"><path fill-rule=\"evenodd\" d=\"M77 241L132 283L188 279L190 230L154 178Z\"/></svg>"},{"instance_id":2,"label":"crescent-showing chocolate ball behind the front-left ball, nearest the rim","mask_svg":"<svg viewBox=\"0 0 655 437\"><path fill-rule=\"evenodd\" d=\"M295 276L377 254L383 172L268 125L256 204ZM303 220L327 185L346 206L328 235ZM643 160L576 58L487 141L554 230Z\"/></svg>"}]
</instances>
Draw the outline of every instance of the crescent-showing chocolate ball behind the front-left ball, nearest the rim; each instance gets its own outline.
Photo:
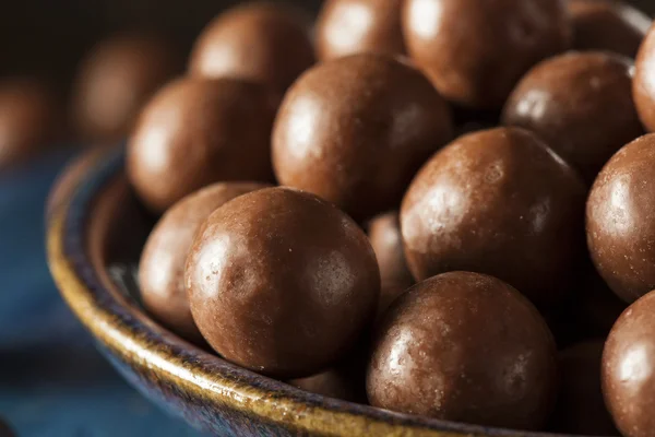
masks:
<instances>
[{"instance_id":1,"label":"crescent-showing chocolate ball behind the front-left ball, nearest the rim","mask_svg":"<svg viewBox=\"0 0 655 437\"><path fill-rule=\"evenodd\" d=\"M202 339L184 288L184 263L195 233L218 206L265 187L255 182L205 187L174 204L151 233L139 264L143 305L156 319L186 339Z\"/></svg>"}]
</instances>

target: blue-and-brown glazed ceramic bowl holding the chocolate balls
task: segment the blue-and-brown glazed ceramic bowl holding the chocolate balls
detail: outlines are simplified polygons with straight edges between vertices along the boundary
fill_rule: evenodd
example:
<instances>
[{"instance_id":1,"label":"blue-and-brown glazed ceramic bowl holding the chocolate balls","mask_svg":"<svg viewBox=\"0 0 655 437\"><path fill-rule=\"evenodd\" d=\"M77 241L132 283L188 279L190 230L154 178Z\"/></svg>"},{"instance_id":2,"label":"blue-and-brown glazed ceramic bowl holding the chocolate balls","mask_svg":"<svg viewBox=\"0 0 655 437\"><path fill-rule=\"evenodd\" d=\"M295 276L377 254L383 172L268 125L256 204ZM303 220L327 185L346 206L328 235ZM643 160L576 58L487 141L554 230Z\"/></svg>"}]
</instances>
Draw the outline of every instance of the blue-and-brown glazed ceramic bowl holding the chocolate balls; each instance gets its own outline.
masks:
<instances>
[{"instance_id":1,"label":"blue-and-brown glazed ceramic bowl holding the chocolate balls","mask_svg":"<svg viewBox=\"0 0 655 437\"><path fill-rule=\"evenodd\" d=\"M48 209L48 259L66 302L147 398L219 436L546 436L396 414L303 392L245 370L159 327L112 269L135 264L153 225L123 174L123 150L69 167Z\"/></svg>"}]
</instances>

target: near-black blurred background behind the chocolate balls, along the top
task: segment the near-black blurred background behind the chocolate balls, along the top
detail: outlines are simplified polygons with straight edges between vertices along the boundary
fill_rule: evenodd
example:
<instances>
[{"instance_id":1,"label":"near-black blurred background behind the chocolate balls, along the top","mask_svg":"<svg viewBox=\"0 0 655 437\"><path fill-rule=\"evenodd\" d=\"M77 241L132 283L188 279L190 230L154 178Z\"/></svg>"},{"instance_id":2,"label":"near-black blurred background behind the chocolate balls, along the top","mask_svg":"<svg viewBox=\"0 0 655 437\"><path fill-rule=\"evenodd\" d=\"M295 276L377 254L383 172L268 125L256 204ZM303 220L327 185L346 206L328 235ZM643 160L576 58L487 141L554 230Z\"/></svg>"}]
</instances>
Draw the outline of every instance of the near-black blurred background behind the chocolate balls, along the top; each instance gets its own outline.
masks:
<instances>
[{"instance_id":1,"label":"near-black blurred background behind the chocolate balls, along the top","mask_svg":"<svg viewBox=\"0 0 655 437\"><path fill-rule=\"evenodd\" d=\"M384 2L386 0L379 0ZM66 92L93 44L116 32L150 29L188 52L193 38L221 10L238 0L3 0L0 75L41 75ZM288 0L318 11L321 0ZM655 1L632 0L655 13Z\"/></svg>"}]
</instances>

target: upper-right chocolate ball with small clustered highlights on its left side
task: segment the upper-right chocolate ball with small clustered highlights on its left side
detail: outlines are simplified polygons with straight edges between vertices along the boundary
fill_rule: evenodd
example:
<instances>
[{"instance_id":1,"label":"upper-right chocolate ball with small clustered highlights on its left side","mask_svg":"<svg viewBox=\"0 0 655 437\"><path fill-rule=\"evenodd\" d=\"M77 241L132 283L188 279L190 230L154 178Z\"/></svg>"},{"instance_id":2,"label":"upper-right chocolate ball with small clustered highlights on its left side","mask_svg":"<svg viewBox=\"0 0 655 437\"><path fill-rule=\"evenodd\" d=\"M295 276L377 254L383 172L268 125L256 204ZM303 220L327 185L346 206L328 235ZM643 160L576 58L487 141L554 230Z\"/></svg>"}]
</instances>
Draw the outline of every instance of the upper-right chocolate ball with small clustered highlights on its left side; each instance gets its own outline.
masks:
<instances>
[{"instance_id":1,"label":"upper-right chocolate ball with small clustered highlights on its left side","mask_svg":"<svg viewBox=\"0 0 655 437\"><path fill-rule=\"evenodd\" d=\"M570 52L532 69L510 95L503 123L532 130L591 185L619 149L643 134L630 59Z\"/></svg>"}]
</instances>

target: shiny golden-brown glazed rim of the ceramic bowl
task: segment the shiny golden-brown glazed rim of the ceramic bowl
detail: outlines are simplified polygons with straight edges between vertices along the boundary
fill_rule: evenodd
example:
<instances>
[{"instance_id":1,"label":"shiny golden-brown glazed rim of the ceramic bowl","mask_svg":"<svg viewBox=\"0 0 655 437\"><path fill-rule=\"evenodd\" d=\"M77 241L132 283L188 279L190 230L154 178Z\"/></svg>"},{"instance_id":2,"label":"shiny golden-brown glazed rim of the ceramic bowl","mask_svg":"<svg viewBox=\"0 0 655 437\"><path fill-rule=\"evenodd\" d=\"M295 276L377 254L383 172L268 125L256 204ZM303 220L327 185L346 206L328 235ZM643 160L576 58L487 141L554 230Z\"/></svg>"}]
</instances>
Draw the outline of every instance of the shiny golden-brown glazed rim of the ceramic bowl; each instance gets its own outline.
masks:
<instances>
[{"instance_id":1,"label":"shiny golden-brown glazed rim of the ceramic bowl","mask_svg":"<svg viewBox=\"0 0 655 437\"><path fill-rule=\"evenodd\" d=\"M117 299L119 292L104 284L95 271L85 248L86 218L93 201L121 170L124 146L86 152L80 161L85 158L84 170L48 214L48 265L75 317L97 342L130 366L146 365L158 380L209 403L227 404L254 418L309 434L564 436L440 421L335 400L258 375L191 345L148 319L141 309Z\"/></svg>"}]
</instances>

